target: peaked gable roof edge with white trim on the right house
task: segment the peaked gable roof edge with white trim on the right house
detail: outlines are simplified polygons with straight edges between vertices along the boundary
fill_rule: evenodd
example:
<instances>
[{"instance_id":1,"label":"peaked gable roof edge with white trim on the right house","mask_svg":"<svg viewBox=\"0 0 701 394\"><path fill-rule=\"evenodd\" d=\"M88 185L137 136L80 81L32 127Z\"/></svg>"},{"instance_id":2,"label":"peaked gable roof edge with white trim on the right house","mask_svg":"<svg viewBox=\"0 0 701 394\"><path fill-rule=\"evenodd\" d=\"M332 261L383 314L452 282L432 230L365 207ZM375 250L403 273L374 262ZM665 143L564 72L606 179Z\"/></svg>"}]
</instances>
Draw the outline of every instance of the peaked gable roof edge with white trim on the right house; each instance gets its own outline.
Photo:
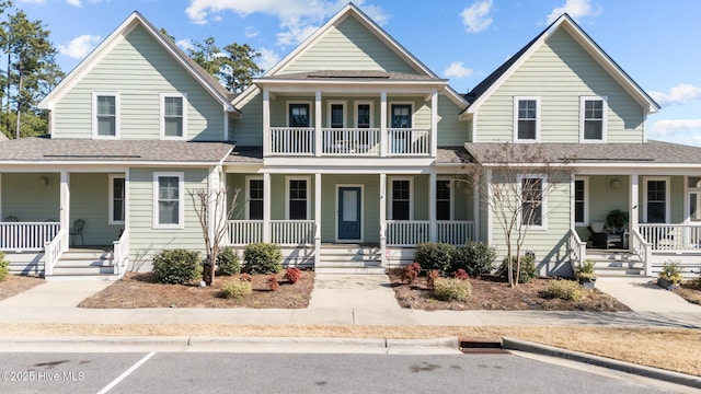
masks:
<instances>
[{"instance_id":1,"label":"peaked gable roof edge with white trim on the right house","mask_svg":"<svg viewBox=\"0 0 701 394\"><path fill-rule=\"evenodd\" d=\"M518 69L548 38L559 30L566 30L574 39L586 50L623 89L631 94L648 114L656 113L657 104L610 56L568 15L562 14L526 46L508 58L494 72L487 76L474 89L464 95L470 106L463 114L473 114L480 105Z\"/></svg>"}]
</instances>

